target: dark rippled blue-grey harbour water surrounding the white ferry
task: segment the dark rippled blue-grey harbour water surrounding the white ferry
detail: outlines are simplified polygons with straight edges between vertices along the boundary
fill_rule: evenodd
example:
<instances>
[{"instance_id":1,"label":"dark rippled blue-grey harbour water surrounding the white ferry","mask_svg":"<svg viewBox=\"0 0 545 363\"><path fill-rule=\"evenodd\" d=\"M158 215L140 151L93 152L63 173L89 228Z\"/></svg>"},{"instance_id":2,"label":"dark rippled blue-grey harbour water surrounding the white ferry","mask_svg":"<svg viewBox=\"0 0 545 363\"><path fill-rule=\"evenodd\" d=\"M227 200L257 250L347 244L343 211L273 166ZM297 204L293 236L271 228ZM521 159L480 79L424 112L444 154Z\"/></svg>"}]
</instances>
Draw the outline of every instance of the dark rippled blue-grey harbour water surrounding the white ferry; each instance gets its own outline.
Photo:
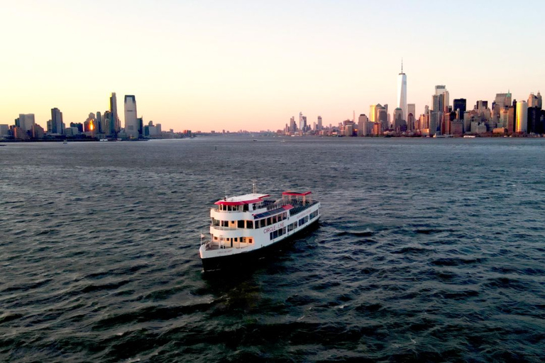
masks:
<instances>
[{"instance_id":1,"label":"dark rippled blue-grey harbour water surrounding the white ferry","mask_svg":"<svg viewBox=\"0 0 545 363\"><path fill-rule=\"evenodd\" d=\"M0 360L545 359L545 140L257 140L0 147ZM204 275L254 178L319 228Z\"/></svg>"}]
</instances>

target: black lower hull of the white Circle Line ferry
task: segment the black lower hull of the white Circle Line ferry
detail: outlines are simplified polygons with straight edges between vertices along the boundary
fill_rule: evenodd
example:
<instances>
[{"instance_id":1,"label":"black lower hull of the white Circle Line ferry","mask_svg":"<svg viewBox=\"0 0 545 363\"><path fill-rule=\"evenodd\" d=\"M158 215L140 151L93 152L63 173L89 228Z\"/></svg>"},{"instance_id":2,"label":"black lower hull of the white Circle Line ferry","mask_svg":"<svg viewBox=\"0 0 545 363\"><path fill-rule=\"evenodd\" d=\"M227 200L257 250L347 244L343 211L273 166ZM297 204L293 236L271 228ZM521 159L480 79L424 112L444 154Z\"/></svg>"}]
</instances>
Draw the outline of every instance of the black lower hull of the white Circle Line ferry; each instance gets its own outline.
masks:
<instances>
[{"instance_id":1,"label":"black lower hull of the white Circle Line ferry","mask_svg":"<svg viewBox=\"0 0 545 363\"><path fill-rule=\"evenodd\" d=\"M202 259L202 267L204 272L214 272L226 269L246 269L248 267L257 267L262 257L268 257L272 255L272 252L285 245L296 238L305 235L318 227L319 218L309 223L307 227L302 230L298 230L296 233L287 236L282 240L278 240L270 245L264 247L249 250L248 252L240 252L234 255L207 257Z\"/></svg>"}]
</instances>

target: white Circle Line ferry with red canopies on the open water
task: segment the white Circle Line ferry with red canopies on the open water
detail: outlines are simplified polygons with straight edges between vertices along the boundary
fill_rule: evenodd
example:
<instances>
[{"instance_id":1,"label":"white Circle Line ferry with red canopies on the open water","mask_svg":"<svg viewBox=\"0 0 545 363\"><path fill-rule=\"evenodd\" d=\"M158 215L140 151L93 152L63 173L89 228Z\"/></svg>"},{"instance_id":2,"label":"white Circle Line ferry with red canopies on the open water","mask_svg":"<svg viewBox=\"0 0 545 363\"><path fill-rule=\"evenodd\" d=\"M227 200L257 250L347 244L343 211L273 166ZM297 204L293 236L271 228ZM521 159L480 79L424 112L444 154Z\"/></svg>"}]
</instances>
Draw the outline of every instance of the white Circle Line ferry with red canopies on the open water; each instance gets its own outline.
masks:
<instances>
[{"instance_id":1,"label":"white Circle Line ferry with red canopies on the open water","mask_svg":"<svg viewBox=\"0 0 545 363\"><path fill-rule=\"evenodd\" d=\"M318 224L320 203L312 192L285 191L273 201L255 192L225 197L210 210L209 236L201 234L199 255L204 271L236 267L258 259L295 235Z\"/></svg>"}]
</instances>

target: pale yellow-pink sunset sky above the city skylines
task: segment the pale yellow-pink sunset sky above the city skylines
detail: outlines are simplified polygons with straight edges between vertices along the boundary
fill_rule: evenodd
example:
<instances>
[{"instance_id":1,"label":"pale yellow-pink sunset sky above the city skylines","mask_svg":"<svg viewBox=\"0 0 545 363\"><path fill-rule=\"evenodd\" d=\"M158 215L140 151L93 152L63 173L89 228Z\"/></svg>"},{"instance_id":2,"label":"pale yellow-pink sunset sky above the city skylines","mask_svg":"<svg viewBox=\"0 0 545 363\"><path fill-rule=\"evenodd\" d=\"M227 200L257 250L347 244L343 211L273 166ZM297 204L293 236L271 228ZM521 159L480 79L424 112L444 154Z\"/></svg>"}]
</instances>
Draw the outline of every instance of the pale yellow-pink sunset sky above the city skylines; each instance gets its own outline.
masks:
<instances>
[{"instance_id":1,"label":"pale yellow-pink sunset sky above the city skylines","mask_svg":"<svg viewBox=\"0 0 545 363\"><path fill-rule=\"evenodd\" d=\"M338 124L436 84L468 108L545 85L545 2L0 0L0 124L65 123L136 96L163 130L277 130L302 112ZM542 89L542 90L545 90ZM391 111L390 111L391 112Z\"/></svg>"}]
</instances>

